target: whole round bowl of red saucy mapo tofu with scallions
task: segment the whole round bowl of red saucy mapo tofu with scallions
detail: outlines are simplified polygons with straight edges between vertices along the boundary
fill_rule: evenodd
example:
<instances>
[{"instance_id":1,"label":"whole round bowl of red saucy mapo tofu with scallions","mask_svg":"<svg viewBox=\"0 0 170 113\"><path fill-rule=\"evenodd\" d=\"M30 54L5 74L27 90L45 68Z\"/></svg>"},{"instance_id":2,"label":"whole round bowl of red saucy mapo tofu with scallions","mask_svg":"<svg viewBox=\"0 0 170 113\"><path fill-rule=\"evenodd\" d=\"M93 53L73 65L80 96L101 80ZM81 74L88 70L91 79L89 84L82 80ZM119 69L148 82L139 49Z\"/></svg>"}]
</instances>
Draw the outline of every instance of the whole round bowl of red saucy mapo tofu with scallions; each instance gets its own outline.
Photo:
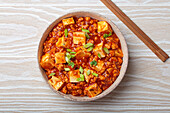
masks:
<instances>
[{"instance_id":1,"label":"whole round bowl of red saucy mapo tofu with scallions","mask_svg":"<svg viewBox=\"0 0 170 113\"><path fill-rule=\"evenodd\" d=\"M38 48L40 71L54 92L73 101L104 97L121 82L128 49L109 19L73 12L56 19Z\"/></svg>"}]
</instances>

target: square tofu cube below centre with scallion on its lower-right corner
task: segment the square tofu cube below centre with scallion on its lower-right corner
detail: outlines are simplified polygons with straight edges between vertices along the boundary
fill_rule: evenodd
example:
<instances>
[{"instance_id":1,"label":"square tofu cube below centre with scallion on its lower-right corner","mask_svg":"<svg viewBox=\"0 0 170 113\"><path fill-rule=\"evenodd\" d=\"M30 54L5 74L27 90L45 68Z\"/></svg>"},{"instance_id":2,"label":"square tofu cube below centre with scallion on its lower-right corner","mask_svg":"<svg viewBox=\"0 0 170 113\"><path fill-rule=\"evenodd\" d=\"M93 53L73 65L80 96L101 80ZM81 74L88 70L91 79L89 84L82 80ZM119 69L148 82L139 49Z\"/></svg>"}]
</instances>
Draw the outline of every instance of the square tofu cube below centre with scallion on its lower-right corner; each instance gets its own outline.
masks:
<instances>
[{"instance_id":1,"label":"square tofu cube below centre with scallion on its lower-right corner","mask_svg":"<svg viewBox=\"0 0 170 113\"><path fill-rule=\"evenodd\" d=\"M74 71L69 71L69 81L70 82L79 82L77 81L78 78L80 78L80 71L79 70L74 70Z\"/></svg>"}]
</instances>

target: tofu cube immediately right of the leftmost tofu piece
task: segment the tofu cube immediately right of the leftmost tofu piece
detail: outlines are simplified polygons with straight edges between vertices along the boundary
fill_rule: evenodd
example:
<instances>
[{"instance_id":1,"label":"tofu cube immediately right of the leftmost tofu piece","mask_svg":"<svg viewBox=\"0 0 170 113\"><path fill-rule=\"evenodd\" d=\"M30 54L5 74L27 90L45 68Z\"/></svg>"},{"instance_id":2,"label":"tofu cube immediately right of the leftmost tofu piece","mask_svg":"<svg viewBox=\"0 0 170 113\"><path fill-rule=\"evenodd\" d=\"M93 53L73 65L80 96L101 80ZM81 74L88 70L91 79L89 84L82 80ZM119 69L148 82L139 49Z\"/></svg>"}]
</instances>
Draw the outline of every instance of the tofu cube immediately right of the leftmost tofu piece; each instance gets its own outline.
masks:
<instances>
[{"instance_id":1,"label":"tofu cube immediately right of the leftmost tofu piece","mask_svg":"<svg viewBox=\"0 0 170 113\"><path fill-rule=\"evenodd\" d=\"M64 53L64 52L57 52L57 53L55 54L55 63L56 63L56 64L66 63L65 53Z\"/></svg>"}]
</instances>

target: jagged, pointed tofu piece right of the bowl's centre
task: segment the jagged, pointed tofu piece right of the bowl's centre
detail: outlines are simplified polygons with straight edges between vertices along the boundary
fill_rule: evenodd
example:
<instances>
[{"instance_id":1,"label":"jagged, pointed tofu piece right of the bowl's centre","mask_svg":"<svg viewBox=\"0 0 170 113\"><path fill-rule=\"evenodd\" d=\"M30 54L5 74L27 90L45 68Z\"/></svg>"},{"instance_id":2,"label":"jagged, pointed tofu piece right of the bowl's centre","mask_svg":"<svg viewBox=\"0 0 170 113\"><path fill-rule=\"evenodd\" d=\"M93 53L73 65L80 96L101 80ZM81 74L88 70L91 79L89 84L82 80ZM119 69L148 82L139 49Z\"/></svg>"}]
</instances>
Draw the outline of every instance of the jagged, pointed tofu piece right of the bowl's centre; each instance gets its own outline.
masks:
<instances>
[{"instance_id":1,"label":"jagged, pointed tofu piece right of the bowl's centre","mask_svg":"<svg viewBox=\"0 0 170 113\"><path fill-rule=\"evenodd\" d=\"M95 48L93 49L94 55L98 56L98 54L101 55L101 57L105 57L105 53L103 51L103 42L97 44Z\"/></svg>"}]
</instances>

